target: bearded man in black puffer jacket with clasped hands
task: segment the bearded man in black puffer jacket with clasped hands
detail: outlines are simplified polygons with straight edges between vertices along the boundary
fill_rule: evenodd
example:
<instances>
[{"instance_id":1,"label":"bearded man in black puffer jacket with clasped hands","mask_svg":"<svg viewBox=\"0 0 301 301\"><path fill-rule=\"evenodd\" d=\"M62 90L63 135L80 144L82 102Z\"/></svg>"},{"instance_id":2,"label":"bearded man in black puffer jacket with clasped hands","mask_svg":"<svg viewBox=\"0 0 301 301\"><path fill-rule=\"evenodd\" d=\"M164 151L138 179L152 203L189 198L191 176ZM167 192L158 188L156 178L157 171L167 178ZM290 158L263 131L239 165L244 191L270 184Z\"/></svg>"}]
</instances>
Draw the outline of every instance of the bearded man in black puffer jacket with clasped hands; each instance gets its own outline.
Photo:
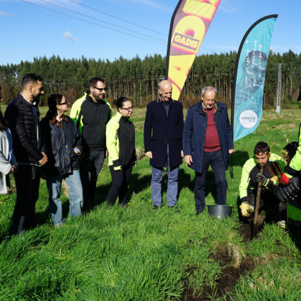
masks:
<instances>
[{"instance_id":1,"label":"bearded man in black puffer jacket with clasped hands","mask_svg":"<svg viewBox=\"0 0 301 301\"><path fill-rule=\"evenodd\" d=\"M14 173L17 189L13 213L15 234L33 227L35 205L39 197L40 167L47 162L47 156L40 151L38 103L41 94L44 94L41 76L25 74L22 92L9 103L5 111L18 163L17 172Z\"/></svg>"}]
</instances>

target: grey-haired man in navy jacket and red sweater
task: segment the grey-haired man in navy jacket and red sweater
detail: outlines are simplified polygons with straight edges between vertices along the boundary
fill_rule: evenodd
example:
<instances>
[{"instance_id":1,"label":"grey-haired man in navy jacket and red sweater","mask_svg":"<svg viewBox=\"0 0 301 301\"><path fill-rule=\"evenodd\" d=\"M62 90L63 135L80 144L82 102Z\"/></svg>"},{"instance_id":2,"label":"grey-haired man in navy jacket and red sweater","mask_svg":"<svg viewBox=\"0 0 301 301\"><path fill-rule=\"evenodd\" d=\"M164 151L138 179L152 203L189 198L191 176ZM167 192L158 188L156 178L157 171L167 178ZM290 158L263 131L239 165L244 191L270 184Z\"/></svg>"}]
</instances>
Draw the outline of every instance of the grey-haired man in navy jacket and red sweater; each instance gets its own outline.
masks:
<instances>
[{"instance_id":1,"label":"grey-haired man in navy jacket and red sweater","mask_svg":"<svg viewBox=\"0 0 301 301\"><path fill-rule=\"evenodd\" d=\"M204 87L202 101L187 110L183 131L185 162L195 171L196 215L205 209L205 177L211 165L217 187L217 203L226 205L229 154L233 138L227 106L215 101L216 89Z\"/></svg>"}]
</instances>

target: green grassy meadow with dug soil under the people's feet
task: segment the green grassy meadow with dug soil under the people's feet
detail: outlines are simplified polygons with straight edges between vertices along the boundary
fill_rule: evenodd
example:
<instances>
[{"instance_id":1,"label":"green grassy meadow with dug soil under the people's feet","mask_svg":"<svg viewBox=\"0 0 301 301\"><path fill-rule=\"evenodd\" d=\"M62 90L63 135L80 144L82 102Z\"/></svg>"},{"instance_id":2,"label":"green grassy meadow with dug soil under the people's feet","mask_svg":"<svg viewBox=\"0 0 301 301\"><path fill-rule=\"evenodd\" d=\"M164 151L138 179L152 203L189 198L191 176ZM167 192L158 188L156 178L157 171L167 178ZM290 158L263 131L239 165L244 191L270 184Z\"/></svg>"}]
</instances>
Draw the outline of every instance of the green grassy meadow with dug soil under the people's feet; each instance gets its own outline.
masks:
<instances>
[{"instance_id":1,"label":"green grassy meadow with dug soil under the people's feet","mask_svg":"<svg viewBox=\"0 0 301 301\"><path fill-rule=\"evenodd\" d=\"M145 109L132 115L141 150L144 116ZM10 235L16 193L0 195L0 300L300 300L301 256L289 233L266 224L256 239L245 239L237 206L241 168L254 145L266 141L281 155L288 141L298 140L300 120L297 108L278 115L265 111L257 130L235 142L234 180L226 173L233 211L225 220L207 211L195 216L194 172L186 164L179 170L180 213L166 206L166 177L164 206L153 210L146 157L133 169L128 208L106 205L111 183L106 160L96 206L58 229L50 220L44 180L37 227L20 236ZM205 193L206 204L214 204L211 170ZM68 197L61 197L67 217Z\"/></svg>"}]
</instances>

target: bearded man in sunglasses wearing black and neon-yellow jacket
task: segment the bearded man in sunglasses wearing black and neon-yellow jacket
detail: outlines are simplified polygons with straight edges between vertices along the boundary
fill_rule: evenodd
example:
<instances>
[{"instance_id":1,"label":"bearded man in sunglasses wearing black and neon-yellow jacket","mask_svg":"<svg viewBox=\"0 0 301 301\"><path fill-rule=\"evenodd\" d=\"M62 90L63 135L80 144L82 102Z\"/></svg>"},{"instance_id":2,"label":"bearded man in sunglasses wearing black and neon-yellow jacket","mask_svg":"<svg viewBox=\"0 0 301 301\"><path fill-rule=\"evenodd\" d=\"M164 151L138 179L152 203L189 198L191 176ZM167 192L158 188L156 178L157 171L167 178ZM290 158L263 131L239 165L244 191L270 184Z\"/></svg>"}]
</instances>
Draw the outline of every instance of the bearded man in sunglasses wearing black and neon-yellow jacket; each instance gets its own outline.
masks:
<instances>
[{"instance_id":1,"label":"bearded man in sunglasses wearing black and neon-yellow jacket","mask_svg":"<svg viewBox=\"0 0 301 301\"><path fill-rule=\"evenodd\" d=\"M70 112L83 137L80 177L85 207L94 203L98 174L107 155L106 124L111 118L111 106L105 100L106 89L103 79L90 79L89 94L85 99L78 99Z\"/></svg>"}]
</instances>

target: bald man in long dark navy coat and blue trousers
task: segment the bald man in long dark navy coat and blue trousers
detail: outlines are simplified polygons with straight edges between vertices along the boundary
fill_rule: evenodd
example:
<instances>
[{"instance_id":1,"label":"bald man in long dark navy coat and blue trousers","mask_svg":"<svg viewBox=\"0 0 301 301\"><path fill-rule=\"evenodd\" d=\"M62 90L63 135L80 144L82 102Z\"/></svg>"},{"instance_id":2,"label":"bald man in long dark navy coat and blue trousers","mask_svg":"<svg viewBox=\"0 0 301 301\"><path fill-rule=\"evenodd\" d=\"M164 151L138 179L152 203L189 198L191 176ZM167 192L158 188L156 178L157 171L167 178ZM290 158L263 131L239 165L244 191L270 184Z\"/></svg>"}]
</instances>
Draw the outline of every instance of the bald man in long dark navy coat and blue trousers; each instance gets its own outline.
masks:
<instances>
[{"instance_id":1,"label":"bald man in long dark navy coat and blue trousers","mask_svg":"<svg viewBox=\"0 0 301 301\"><path fill-rule=\"evenodd\" d=\"M159 98L147 105L144 122L145 155L152 166L152 205L162 203L161 180L163 168L168 166L167 206L177 203L178 171L182 164L183 106L172 100L172 85L163 80L159 84Z\"/></svg>"}]
</instances>

